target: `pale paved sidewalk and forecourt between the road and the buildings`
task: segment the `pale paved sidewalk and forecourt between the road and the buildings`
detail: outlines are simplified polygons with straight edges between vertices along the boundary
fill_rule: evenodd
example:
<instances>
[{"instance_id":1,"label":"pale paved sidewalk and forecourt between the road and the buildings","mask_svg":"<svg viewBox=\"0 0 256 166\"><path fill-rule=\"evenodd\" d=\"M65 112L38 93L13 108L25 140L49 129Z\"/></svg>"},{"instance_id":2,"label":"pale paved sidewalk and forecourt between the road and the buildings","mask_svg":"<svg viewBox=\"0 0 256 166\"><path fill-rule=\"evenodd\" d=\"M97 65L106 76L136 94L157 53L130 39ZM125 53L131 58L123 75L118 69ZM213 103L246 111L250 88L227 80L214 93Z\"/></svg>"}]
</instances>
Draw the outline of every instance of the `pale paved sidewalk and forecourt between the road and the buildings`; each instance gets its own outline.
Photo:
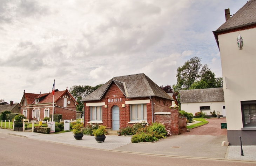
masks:
<instances>
[{"instance_id":1,"label":"pale paved sidewalk and forecourt between the road and the buildings","mask_svg":"<svg viewBox=\"0 0 256 166\"><path fill-rule=\"evenodd\" d=\"M94 136L84 135L82 140L76 140L72 132L61 134L41 134L31 132L18 132L0 129L2 134L22 136L41 141L49 141L67 145L87 148L115 150L165 156L182 156L196 158L220 158L235 160L256 161L256 146L243 146L244 156L240 156L240 146L221 146L225 136L210 135L174 135L155 143L131 143L131 137L106 135L104 143L97 143ZM228 149L228 155L226 155Z\"/></svg>"}]
</instances>

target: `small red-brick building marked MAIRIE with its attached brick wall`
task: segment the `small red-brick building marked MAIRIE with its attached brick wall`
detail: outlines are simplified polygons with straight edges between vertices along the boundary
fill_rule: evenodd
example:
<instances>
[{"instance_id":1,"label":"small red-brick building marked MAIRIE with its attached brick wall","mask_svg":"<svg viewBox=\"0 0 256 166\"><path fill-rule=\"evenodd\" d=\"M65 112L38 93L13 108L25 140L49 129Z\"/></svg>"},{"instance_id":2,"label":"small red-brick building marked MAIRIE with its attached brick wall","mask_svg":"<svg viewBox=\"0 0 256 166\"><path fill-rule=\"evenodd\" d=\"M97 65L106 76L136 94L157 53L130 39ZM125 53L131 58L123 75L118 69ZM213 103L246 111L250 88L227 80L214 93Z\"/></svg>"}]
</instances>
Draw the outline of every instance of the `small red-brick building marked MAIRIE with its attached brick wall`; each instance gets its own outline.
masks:
<instances>
[{"instance_id":1,"label":"small red-brick building marked MAIRIE with its attached brick wall","mask_svg":"<svg viewBox=\"0 0 256 166\"><path fill-rule=\"evenodd\" d=\"M178 108L169 108L174 99L143 73L114 77L81 101L85 124L119 130L144 120L164 123L171 134L179 134Z\"/></svg>"}]
</instances>

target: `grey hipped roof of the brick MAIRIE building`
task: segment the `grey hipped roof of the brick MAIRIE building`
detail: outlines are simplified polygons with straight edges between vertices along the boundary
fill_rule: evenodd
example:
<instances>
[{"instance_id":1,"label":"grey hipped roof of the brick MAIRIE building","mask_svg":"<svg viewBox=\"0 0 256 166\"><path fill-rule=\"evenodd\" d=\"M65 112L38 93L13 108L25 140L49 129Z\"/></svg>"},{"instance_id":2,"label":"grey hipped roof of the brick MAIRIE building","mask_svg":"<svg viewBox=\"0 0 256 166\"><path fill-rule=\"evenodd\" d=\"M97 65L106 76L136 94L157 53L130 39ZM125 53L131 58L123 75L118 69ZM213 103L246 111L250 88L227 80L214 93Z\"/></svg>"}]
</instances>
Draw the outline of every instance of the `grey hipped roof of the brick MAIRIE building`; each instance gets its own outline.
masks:
<instances>
[{"instance_id":1,"label":"grey hipped roof of the brick MAIRIE building","mask_svg":"<svg viewBox=\"0 0 256 166\"><path fill-rule=\"evenodd\" d=\"M157 96L174 100L144 73L114 77L81 101L100 100L108 87L115 83L127 98ZM125 87L127 93L125 92Z\"/></svg>"}]
</instances>

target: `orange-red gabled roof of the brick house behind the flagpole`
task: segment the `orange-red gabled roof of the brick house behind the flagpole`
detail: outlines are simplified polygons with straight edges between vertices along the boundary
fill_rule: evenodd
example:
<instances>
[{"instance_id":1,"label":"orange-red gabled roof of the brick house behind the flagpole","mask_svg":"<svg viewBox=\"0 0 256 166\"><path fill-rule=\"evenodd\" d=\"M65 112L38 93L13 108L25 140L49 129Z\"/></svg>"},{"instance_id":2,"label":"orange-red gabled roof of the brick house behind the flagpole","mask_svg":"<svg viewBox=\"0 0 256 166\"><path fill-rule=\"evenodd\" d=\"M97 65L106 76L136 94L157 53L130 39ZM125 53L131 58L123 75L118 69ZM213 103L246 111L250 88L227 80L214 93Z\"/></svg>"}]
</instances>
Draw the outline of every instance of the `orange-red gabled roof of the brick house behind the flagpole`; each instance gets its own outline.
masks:
<instances>
[{"instance_id":1,"label":"orange-red gabled roof of the brick house behind the flagpole","mask_svg":"<svg viewBox=\"0 0 256 166\"><path fill-rule=\"evenodd\" d=\"M64 91L55 91L54 92L54 103L59 100L65 93L68 93L68 95L75 101L76 100L73 98L73 96L68 92L68 90ZM25 93L22 97L21 103L24 99L24 96L27 100L27 104L35 104L35 99L39 99L39 102L36 104L45 104L45 103L53 103L53 94L52 93L43 93L43 94L35 94L35 93Z\"/></svg>"}]
</instances>

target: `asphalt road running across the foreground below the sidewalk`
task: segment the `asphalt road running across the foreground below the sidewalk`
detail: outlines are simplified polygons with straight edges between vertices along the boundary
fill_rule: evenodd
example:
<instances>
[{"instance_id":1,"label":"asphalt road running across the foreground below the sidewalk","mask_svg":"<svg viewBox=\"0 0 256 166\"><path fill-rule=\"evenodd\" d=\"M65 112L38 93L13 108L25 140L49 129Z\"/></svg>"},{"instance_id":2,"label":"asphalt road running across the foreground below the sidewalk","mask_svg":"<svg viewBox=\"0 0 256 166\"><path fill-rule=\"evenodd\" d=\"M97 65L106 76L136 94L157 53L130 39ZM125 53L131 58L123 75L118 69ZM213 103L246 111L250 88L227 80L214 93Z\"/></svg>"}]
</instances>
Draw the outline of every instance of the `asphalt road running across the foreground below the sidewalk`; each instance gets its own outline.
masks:
<instances>
[{"instance_id":1,"label":"asphalt road running across the foreground below the sidewalk","mask_svg":"<svg viewBox=\"0 0 256 166\"><path fill-rule=\"evenodd\" d=\"M13 135L0 134L0 165L255 166L256 163L234 162L228 160L163 157L108 150L96 150L78 146L39 141Z\"/></svg>"}]
</instances>

